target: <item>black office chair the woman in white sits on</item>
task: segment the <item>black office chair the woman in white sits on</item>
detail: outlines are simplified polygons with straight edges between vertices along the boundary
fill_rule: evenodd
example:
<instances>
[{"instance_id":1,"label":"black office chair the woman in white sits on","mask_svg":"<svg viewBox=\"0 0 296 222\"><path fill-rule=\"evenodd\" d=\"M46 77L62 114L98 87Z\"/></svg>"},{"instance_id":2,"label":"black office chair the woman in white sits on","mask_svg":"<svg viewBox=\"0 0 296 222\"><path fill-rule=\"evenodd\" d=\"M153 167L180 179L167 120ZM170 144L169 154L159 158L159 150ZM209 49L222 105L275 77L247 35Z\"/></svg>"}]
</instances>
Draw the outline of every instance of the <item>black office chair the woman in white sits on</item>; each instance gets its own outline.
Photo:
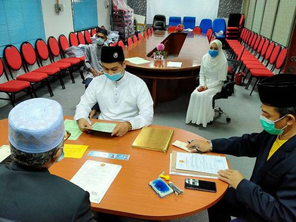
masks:
<instances>
[{"instance_id":1,"label":"black office chair the woman in white sits on","mask_svg":"<svg viewBox=\"0 0 296 222\"><path fill-rule=\"evenodd\" d=\"M229 96L231 96L234 92L234 82L228 82L225 81L224 84L222 85L222 90L221 92L218 92L214 97L213 97L213 109L215 112L218 112L219 114L224 114L226 116L226 121L230 122L231 118L228 116L228 114L220 107L215 107L215 101L219 99L227 99Z\"/></svg>"}]
</instances>

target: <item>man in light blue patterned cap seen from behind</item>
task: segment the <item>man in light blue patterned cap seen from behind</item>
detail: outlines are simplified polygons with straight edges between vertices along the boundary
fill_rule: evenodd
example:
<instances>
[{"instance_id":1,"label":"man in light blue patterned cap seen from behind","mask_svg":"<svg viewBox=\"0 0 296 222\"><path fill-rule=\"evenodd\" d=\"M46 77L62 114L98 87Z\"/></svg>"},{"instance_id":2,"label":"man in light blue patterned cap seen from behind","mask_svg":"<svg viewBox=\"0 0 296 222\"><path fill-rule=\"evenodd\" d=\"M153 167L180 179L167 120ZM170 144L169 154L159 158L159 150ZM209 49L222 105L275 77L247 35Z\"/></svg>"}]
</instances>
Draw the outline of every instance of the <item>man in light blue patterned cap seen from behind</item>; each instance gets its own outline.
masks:
<instances>
[{"instance_id":1,"label":"man in light blue patterned cap seen from behind","mask_svg":"<svg viewBox=\"0 0 296 222\"><path fill-rule=\"evenodd\" d=\"M0 166L0 221L94 221L89 193L48 171L64 157L66 139L56 101L31 99L9 112L13 161Z\"/></svg>"}]
</instances>

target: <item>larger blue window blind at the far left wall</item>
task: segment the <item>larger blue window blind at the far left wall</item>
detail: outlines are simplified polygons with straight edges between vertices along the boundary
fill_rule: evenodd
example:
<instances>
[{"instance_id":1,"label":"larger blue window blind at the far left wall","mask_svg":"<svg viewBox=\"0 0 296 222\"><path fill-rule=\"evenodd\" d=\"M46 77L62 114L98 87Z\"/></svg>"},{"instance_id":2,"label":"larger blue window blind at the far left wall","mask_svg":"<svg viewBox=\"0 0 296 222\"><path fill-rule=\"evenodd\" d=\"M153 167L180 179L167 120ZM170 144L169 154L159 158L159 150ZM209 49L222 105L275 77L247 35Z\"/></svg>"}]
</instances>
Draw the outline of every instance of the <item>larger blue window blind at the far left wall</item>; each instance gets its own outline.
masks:
<instances>
[{"instance_id":1,"label":"larger blue window blind at the far left wall","mask_svg":"<svg viewBox=\"0 0 296 222\"><path fill-rule=\"evenodd\" d=\"M0 57L6 45L34 46L37 38L45 40L41 0L0 0Z\"/></svg>"}]
</instances>

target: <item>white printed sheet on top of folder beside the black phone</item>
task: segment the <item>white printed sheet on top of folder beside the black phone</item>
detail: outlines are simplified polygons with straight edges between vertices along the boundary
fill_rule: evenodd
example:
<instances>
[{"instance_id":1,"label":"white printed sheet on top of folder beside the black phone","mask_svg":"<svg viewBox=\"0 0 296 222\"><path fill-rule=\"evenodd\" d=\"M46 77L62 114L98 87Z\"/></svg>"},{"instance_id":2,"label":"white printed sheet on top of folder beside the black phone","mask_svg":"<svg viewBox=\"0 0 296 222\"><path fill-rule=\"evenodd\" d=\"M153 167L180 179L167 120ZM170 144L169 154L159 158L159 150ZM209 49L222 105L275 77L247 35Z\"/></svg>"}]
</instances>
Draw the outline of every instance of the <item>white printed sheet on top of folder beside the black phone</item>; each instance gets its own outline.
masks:
<instances>
[{"instance_id":1,"label":"white printed sheet on top of folder beside the black phone","mask_svg":"<svg viewBox=\"0 0 296 222\"><path fill-rule=\"evenodd\" d=\"M226 157L177 152L176 169L216 174L228 169Z\"/></svg>"}]
</instances>

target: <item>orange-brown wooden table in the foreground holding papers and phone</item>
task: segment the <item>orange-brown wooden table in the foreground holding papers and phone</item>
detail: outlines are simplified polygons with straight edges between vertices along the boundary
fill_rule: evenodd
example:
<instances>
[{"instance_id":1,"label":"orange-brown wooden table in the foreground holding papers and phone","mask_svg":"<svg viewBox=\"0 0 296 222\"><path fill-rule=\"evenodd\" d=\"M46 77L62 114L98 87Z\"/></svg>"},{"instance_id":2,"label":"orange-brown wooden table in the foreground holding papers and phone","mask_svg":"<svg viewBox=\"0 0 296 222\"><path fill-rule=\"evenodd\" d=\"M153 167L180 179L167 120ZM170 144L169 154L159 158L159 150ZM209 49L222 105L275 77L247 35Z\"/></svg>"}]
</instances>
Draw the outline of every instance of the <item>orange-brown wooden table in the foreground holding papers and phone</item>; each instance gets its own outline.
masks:
<instances>
[{"instance_id":1,"label":"orange-brown wooden table in the foreground holding papers and phone","mask_svg":"<svg viewBox=\"0 0 296 222\"><path fill-rule=\"evenodd\" d=\"M65 116L66 118L73 119L72 116ZM102 120L92 119L93 123L95 121ZM7 127L7 119L0 120L1 145L8 145ZM157 125L151 125L151 127L174 129L172 142L176 140L187 141L192 138L203 139L194 133L178 128ZM222 198L228 185L220 180L201 178L201 180L216 182L217 193L211 193L185 189L185 176L170 175L170 181L184 189L184 194L178 197L172 194L160 199L148 186L148 183L156 179L163 170L165 170L165 174L169 173L172 150L180 152L184 150L172 145L170 145L167 153L132 148L131 145L139 132L140 130L131 131L121 138L82 133L76 141L68 140L66 143L88 145L89 147L83 157L81 159L64 158L49 170L52 174L70 181L88 159L121 165L121 170L101 203L91 203L92 210L138 219L161 221L183 218L206 210ZM126 161L87 156L90 150L129 154L130 159Z\"/></svg>"}]
</instances>

